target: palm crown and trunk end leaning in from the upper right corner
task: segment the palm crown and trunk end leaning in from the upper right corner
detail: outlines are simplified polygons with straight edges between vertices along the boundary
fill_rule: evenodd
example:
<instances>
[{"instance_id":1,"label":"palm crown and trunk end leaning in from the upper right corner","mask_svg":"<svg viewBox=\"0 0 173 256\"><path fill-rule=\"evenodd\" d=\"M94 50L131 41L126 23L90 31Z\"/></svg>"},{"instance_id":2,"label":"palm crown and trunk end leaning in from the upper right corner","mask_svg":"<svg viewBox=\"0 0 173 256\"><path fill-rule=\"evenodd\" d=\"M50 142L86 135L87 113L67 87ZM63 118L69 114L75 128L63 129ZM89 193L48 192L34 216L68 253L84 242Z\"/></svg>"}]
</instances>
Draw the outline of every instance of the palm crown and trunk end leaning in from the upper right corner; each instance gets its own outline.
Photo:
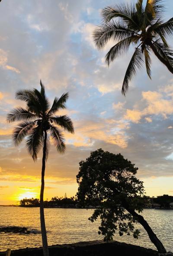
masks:
<instances>
[{"instance_id":1,"label":"palm crown and trunk end leaning in from the upper right corner","mask_svg":"<svg viewBox=\"0 0 173 256\"><path fill-rule=\"evenodd\" d=\"M173 18L163 21L162 0L147 0L145 6L143 2L138 0L136 4L122 3L104 8L101 11L103 22L93 32L99 50L109 40L118 42L106 54L108 65L125 54L131 44L135 47L122 85L124 95L144 62L151 78L151 52L173 73L173 49L167 43L167 38L173 33Z\"/></svg>"}]
</instances>

